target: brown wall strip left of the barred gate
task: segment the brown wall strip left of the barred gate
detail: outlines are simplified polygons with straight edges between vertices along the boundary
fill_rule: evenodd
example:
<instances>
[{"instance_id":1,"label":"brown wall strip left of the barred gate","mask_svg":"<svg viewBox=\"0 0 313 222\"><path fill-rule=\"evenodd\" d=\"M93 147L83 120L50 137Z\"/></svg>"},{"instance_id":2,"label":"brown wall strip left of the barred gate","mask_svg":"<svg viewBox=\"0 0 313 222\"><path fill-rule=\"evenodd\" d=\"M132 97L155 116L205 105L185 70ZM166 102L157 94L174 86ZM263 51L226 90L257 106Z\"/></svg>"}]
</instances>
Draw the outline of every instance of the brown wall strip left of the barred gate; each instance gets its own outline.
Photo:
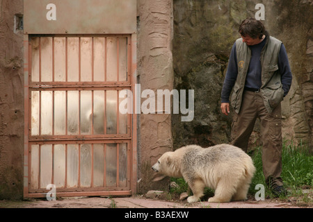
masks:
<instances>
[{"instance_id":1,"label":"brown wall strip left of the barred gate","mask_svg":"<svg viewBox=\"0 0 313 222\"><path fill-rule=\"evenodd\" d=\"M22 198L24 151L22 0L0 1L0 199Z\"/></svg>"}]
</instances>

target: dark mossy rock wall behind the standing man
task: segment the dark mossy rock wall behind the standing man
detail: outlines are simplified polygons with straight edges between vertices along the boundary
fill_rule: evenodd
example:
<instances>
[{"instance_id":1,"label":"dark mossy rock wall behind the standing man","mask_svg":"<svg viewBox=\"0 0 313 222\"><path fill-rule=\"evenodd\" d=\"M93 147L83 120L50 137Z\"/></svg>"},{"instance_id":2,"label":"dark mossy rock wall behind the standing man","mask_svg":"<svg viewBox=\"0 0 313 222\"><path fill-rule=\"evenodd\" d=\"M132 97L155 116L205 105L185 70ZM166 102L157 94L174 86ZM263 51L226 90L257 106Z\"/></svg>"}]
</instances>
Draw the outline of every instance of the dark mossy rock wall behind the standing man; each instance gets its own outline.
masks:
<instances>
[{"instance_id":1,"label":"dark mossy rock wall behind the standing man","mask_svg":"<svg viewBox=\"0 0 313 222\"><path fill-rule=\"evenodd\" d=\"M262 3L264 25L286 46L294 80L282 102L283 137L313 146L313 1L173 1L174 88L195 89L195 118L172 117L174 147L209 146L230 141L232 117L220 112L220 92L227 60L246 17ZM259 144L259 124L250 138Z\"/></svg>"}]
</instances>

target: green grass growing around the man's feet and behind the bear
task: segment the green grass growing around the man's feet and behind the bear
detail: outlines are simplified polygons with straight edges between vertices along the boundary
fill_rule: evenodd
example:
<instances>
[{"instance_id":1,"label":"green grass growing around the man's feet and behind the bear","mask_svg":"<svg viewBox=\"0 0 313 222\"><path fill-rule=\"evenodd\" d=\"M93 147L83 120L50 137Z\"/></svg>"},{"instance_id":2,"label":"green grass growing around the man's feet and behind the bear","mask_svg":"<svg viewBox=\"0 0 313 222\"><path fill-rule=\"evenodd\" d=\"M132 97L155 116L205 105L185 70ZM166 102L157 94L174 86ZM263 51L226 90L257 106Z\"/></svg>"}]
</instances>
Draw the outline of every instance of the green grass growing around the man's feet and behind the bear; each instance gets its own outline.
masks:
<instances>
[{"instance_id":1,"label":"green grass growing around the man's feet and behind the bear","mask_svg":"<svg viewBox=\"0 0 313 222\"><path fill-rule=\"evenodd\" d=\"M257 184L262 184L265 187L265 196L273 198L273 194L271 194L271 191L266 187L262 171L262 147L255 148L253 154L250 155L257 171L252 179L248 194L255 196L255 193L258 191L258 189L255 189L255 186ZM287 197L280 198L296 196L302 198L305 203L312 203L312 194L310 197L308 194L303 194L302 192L302 189L312 189L313 187L313 155L310 154L306 146L303 146L302 144L295 146L292 143L287 144L287 142L284 142L282 148L281 176L284 181L284 187L289 191L289 194ZM181 194L188 190L188 185L184 179L171 178L171 181L176 182L179 187L171 188L170 193ZM211 195L213 192L214 191L211 189L206 189L204 194L209 193Z\"/></svg>"}]
</instances>

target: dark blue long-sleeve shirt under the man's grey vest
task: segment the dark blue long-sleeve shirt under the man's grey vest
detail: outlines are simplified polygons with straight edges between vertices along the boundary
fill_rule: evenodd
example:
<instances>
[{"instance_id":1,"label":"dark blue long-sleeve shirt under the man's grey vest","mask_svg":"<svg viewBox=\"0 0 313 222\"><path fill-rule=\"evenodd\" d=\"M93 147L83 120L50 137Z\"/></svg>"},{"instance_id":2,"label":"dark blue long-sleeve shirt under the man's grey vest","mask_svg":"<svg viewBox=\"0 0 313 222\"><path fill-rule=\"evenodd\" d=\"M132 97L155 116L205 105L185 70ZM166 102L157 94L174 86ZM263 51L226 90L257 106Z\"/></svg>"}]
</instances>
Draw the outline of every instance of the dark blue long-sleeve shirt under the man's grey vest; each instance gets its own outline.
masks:
<instances>
[{"instance_id":1,"label":"dark blue long-sleeve shirt under the man's grey vest","mask_svg":"<svg viewBox=\"0 0 313 222\"><path fill-rule=\"evenodd\" d=\"M248 46L251 49L251 59L248 67L248 72L246 76L245 87L259 89L262 85L262 67L261 67L261 51L266 43L266 38L259 44ZM237 58L236 58L236 43L232 46L232 51L230 52L230 60L228 62L227 72L225 80L223 83L221 102L230 103L230 93L232 92L232 87L236 82L238 75L237 67ZM291 69L289 66L287 51L282 44L280 46L280 54L278 56L278 69L281 74L282 89L284 89L284 96L286 96L291 87Z\"/></svg>"}]
</instances>

